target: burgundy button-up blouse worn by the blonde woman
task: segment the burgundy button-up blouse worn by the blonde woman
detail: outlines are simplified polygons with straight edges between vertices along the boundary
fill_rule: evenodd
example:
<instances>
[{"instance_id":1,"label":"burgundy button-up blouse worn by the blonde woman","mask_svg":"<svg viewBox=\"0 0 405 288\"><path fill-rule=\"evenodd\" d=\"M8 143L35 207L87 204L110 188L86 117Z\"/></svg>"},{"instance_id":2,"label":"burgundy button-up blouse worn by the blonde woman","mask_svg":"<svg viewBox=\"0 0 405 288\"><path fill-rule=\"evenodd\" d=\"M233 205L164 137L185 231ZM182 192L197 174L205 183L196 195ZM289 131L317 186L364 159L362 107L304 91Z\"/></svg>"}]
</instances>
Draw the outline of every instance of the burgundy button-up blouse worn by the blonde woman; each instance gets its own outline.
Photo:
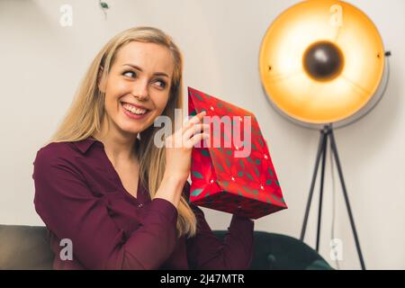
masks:
<instances>
[{"instance_id":1,"label":"burgundy button-up blouse worn by the blonde woman","mask_svg":"<svg viewBox=\"0 0 405 288\"><path fill-rule=\"evenodd\" d=\"M253 252L254 222L232 216L223 242L201 209L193 238L176 237L177 210L164 199L150 200L138 185L128 193L103 143L88 138L40 148L33 175L35 210L45 222L55 269L247 269ZM188 197L190 184L184 184ZM188 199L188 198L187 198ZM73 260L59 257L72 242Z\"/></svg>"}]
</instances>

